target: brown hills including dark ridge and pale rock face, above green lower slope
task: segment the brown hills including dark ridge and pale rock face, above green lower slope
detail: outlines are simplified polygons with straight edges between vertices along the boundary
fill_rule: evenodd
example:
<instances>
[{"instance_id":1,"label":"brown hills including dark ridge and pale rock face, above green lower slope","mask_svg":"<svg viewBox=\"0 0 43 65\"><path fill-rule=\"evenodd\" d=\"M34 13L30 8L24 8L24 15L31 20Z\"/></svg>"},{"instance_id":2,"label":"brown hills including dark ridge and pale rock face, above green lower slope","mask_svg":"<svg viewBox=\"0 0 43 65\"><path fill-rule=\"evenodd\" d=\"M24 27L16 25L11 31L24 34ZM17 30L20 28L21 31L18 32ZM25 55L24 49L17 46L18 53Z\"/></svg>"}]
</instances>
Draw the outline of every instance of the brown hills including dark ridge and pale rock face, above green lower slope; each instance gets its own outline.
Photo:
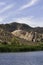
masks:
<instances>
[{"instance_id":1,"label":"brown hills including dark ridge and pale rock face, above green lower slope","mask_svg":"<svg viewBox=\"0 0 43 65\"><path fill-rule=\"evenodd\" d=\"M27 24L0 24L0 40L9 41L18 37L27 41L43 41L43 27L32 28Z\"/></svg>"}]
</instances>

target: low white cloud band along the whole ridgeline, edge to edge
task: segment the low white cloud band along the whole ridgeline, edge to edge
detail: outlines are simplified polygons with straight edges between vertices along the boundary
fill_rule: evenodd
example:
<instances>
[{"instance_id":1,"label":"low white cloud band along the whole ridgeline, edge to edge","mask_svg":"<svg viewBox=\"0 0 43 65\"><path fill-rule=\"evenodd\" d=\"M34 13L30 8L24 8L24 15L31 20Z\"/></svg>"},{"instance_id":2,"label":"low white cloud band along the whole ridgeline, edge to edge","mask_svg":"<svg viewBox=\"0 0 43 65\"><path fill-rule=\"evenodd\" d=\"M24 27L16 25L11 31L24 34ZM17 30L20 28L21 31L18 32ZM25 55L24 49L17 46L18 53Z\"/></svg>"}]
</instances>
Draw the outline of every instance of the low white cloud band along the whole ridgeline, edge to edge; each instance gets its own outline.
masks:
<instances>
[{"instance_id":1,"label":"low white cloud band along the whole ridgeline, edge to edge","mask_svg":"<svg viewBox=\"0 0 43 65\"><path fill-rule=\"evenodd\" d=\"M6 20L7 19L7 20ZM11 23L11 22L18 22L18 23L25 23L30 25L31 27L43 27L43 18L34 18L34 16L30 17L21 17L21 18L11 18L8 20L8 16L0 17L0 23Z\"/></svg>"}]
</instances>

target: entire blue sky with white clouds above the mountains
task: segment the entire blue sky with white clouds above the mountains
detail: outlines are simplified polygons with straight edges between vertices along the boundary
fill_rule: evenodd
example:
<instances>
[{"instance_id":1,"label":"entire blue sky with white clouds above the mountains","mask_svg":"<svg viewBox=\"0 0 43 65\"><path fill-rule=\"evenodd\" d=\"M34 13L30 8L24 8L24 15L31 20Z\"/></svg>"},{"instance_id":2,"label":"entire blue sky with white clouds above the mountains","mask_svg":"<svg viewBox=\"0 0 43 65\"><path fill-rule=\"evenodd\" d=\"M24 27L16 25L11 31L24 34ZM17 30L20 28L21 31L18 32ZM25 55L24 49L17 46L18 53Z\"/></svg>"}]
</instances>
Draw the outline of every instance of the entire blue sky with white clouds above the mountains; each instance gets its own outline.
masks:
<instances>
[{"instance_id":1,"label":"entire blue sky with white clouds above the mountains","mask_svg":"<svg viewBox=\"0 0 43 65\"><path fill-rule=\"evenodd\" d=\"M11 22L43 27L43 0L0 0L0 24Z\"/></svg>"}]
</instances>

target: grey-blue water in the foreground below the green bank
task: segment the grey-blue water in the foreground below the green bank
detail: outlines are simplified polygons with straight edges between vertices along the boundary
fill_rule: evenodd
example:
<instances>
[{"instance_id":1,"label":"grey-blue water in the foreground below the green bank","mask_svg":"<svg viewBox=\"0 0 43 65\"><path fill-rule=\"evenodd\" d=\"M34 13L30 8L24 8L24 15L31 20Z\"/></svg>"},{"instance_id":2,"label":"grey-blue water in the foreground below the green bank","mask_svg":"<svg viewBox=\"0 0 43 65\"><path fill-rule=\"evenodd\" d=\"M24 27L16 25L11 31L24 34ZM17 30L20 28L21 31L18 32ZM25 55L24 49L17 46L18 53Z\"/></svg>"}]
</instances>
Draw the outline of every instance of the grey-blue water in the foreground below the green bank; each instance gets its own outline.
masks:
<instances>
[{"instance_id":1,"label":"grey-blue water in the foreground below the green bank","mask_svg":"<svg viewBox=\"0 0 43 65\"><path fill-rule=\"evenodd\" d=\"M0 53L0 65L43 65L43 51Z\"/></svg>"}]
</instances>

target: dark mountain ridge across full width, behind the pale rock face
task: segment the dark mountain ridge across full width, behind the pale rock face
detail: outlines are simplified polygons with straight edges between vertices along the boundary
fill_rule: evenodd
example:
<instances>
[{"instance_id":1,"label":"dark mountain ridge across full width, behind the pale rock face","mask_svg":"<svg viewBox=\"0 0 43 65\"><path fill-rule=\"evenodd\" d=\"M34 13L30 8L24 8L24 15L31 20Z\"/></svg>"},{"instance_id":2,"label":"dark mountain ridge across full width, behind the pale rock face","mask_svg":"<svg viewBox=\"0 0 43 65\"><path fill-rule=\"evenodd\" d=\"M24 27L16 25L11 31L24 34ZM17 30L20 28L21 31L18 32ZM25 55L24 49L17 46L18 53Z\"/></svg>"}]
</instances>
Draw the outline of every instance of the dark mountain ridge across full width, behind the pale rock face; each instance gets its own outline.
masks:
<instances>
[{"instance_id":1,"label":"dark mountain ridge across full width, behind the pale rock face","mask_svg":"<svg viewBox=\"0 0 43 65\"><path fill-rule=\"evenodd\" d=\"M34 32L38 32L38 33L43 33L43 27L32 28L27 24L16 23L16 22L9 23L9 24L0 24L0 28L4 29L6 31L9 31L9 32L20 29L20 30L24 30L24 31L34 31Z\"/></svg>"}]
</instances>

